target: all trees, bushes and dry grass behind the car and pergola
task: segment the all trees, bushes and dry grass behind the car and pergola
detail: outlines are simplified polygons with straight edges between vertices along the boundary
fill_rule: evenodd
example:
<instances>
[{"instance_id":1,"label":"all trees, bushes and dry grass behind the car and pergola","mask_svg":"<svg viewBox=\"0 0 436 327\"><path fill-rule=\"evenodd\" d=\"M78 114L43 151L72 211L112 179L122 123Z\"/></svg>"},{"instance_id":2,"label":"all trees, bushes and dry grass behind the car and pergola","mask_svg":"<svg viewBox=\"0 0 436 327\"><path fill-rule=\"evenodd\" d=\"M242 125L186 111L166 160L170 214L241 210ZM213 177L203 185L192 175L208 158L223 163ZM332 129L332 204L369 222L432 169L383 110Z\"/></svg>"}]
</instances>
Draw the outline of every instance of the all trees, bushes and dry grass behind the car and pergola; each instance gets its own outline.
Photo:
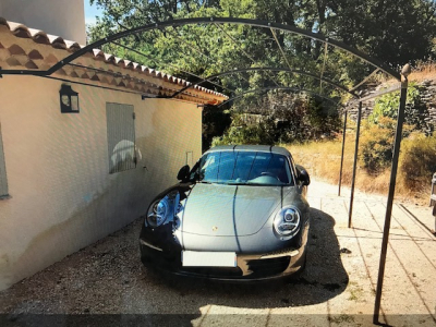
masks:
<instances>
[{"instance_id":1,"label":"all trees, bushes and dry grass behind the car and pergola","mask_svg":"<svg viewBox=\"0 0 436 327\"><path fill-rule=\"evenodd\" d=\"M338 107L350 100L347 90L363 90L388 76L380 71L376 73L376 66L352 51L322 40L327 37L343 43L395 71L411 63L415 68L411 80L426 78L435 71L434 65L422 64L436 53L436 1L433 0L90 2L102 8L104 16L89 26L89 41L147 24L156 26L121 38L117 44L106 44L104 51L194 83L203 81L201 86L235 97L220 108L204 109L204 149L218 144L290 144L294 156L314 175L331 182L337 182L339 173ZM262 20L293 31L301 28L315 37L289 33L288 28L261 28L257 24L221 24L215 19L166 27L157 24L194 17ZM226 74L214 81L208 77L222 72ZM364 85L360 83L363 80ZM354 88L355 85L359 86ZM278 90L280 87L287 92ZM171 95L162 87L161 96ZM419 85L411 83L398 192L424 198L436 171L436 136L429 104L422 98ZM376 100L373 114L363 122L358 174L358 186L362 190L387 190L397 109L398 93L383 96ZM242 113L257 118L251 122ZM351 179L352 135L350 128L346 183Z\"/></svg>"}]
</instances>

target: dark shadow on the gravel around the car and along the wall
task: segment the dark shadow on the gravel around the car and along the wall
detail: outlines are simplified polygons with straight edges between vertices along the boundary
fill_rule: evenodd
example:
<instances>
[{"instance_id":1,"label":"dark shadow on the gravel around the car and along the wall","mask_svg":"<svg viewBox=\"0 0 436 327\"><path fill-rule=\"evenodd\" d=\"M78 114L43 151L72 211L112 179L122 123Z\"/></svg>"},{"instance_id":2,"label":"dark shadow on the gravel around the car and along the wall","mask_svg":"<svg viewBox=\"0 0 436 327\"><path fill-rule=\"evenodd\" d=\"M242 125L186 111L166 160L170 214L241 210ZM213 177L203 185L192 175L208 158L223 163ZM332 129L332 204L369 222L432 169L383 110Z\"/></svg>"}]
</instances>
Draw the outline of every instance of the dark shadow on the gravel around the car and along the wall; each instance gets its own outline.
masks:
<instances>
[{"instance_id":1,"label":"dark shadow on the gravel around the car and along the wall","mask_svg":"<svg viewBox=\"0 0 436 327\"><path fill-rule=\"evenodd\" d=\"M286 307L292 314L292 307L337 296L349 281L335 219L314 208L311 219L307 264L300 278L250 284L167 278L144 268L138 219L0 292L0 325L190 326L209 305L222 306L220 314Z\"/></svg>"}]
</instances>

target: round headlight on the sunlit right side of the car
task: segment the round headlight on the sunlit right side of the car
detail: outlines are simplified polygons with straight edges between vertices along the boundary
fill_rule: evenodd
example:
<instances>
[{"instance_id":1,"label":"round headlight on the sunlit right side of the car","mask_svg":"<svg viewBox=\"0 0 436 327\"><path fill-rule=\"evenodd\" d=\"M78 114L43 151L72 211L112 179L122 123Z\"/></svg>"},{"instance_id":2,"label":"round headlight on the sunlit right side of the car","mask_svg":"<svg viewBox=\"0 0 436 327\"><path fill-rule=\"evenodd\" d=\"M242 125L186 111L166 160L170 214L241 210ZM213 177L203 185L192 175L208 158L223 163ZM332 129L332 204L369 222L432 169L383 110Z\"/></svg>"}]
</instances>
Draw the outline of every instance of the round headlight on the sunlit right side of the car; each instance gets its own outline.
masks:
<instances>
[{"instance_id":1,"label":"round headlight on the sunlit right side of the car","mask_svg":"<svg viewBox=\"0 0 436 327\"><path fill-rule=\"evenodd\" d=\"M284 207L277 213L274 218L274 230L277 237L282 240L289 240L300 230L301 215L295 207Z\"/></svg>"}]
</instances>

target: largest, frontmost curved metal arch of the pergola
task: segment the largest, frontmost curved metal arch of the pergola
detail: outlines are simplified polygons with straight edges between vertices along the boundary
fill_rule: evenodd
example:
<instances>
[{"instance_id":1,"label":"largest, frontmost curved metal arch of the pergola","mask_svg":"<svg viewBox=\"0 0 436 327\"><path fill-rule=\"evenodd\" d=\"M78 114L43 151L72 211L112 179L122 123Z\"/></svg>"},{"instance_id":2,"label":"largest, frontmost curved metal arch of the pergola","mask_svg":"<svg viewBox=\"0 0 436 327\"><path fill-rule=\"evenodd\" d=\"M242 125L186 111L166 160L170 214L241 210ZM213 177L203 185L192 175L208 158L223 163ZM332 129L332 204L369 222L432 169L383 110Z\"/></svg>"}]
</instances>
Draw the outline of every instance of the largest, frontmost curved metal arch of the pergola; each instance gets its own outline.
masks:
<instances>
[{"instance_id":1,"label":"largest, frontmost curved metal arch of the pergola","mask_svg":"<svg viewBox=\"0 0 436 327\"><path fill-rule=\"evenodd\" d=\"M141 32L147 32L156 28L162 28L162 27L173 27L173 26L183 26L183 25L194 25L194 24L240 24L240 25L249 25L249 26L256 26L256 27L264 27L264 28L275 28L283 32L290 32L293 34L302 35L308 38L317 39L319 41L326 43L328 45L331 45L336 48L346 50L350 52L351 55L362 59L363 61L366 61L367 63L380 69L388 75L392 76L393 78L397 78L398 81L401 81L401 75L400 73L396 72L388 65L384 64L379 60L372 58L352 47L347 46L346 44L341 41L337 41L335 39L330 39L328 37L325 37L324 35L319 33L313 33L308 31L304 31L298 27L284 25L284 24L279 24L279 23L271 23L271 22L266 22L266 21L261 21L261 20L249 20L249 19L233 19L233 17L196 17L196 19L182 19L182 20L173 20L173 21L166 21L166 22L160 22L160 23L155 23L155 24L148 24L144 26L138 26L134 27L131 29L122 31L117 34L113 34L111 36L105 37L102 39L99 39L90 45L87 45L86 47L75 51L74 53L68 56L63 60L57 62L53 64L51 68L49 68L47 71L32 71L32 70L0 70L0 75L1 74L20 74L20 75L51 75L65 64L72 62L74 59L77 59L78 57L92 51L95 48L98 48L107 43L118 40L120 38L123 38L125 36L141 33Z\"/></svg>"}]
</instances>

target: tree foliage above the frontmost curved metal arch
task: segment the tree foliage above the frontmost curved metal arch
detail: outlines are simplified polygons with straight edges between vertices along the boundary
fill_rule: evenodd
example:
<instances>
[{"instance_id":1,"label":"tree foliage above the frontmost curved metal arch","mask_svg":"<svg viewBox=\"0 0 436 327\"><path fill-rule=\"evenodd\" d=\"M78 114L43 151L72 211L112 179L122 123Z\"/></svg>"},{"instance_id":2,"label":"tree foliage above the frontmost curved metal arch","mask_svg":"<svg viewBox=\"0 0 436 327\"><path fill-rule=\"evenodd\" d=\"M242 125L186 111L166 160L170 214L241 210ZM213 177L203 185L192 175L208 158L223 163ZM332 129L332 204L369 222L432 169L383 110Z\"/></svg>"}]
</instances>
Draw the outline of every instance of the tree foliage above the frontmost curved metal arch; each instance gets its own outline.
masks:
<instances>
[{"instance_id":1,"label":"tree foliage above the frontmost curved metal arch","mask_svg":"<svg viewBox=\"0 0 436 327\"><path fill-rule=\"evenodd\" d=\"M436 33L436 4L432 0L89 1L104 9L104 16L89 31L92 40L134 26L213 14L259 19L301 27L342 40L390 64L404 64L426 58ZM247 33L243 27L238 31ZM279 38L284 45L286 37ZM315 60L322 47L320 43L307 39L295 43L298 52ZM261 47L261 50L265 48Z\"/></svg>"}]
</instances>

